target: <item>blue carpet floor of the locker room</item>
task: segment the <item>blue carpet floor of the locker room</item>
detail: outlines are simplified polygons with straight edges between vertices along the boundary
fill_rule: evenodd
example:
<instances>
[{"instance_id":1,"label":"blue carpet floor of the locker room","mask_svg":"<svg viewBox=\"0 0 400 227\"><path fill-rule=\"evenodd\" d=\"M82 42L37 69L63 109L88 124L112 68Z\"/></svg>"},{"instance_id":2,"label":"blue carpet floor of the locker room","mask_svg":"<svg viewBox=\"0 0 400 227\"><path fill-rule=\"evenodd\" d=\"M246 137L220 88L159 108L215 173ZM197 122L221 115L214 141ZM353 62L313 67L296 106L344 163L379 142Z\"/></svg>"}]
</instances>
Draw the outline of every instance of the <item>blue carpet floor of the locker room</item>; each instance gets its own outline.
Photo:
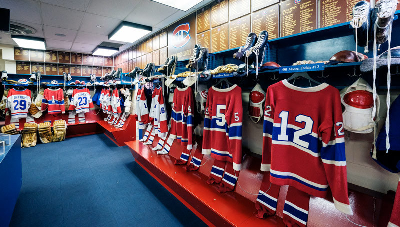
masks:
<instances>
[{"instance_id":1,"label":"blue carpet floor of the locker room","mask_svg":"<svg viewBox=\"0 0 400 227\"><path fill-rule=\"evenodd\" d=\"M104 134L22 149L10 226L205 226Z\"/></svg>"}]
</instances>

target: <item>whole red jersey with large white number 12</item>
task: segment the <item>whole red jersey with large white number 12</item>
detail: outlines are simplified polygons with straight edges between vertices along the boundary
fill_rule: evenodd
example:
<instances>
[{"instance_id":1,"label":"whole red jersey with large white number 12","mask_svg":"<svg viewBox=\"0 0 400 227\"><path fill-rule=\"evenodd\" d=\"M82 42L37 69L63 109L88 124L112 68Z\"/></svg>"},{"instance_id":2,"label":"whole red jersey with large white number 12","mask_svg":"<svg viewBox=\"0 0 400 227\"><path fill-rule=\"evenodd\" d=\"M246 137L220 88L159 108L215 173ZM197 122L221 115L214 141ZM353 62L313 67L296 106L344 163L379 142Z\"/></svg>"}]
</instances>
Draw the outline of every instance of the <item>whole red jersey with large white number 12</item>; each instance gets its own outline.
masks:
<instances>
[{"instance_id":1,"label":"whole red jersey with large white number 12","mask_svg":"<svg viewBox=\"0 0 400 227\"><path fill-rule=\"evenodd\" d=\"M273 184L317 197L325 197L330 187L336 208L352 214L336 88L326 83L300 88L287 80L268 87L261 170L270 171Z\"/></svg>"}]
</instances>

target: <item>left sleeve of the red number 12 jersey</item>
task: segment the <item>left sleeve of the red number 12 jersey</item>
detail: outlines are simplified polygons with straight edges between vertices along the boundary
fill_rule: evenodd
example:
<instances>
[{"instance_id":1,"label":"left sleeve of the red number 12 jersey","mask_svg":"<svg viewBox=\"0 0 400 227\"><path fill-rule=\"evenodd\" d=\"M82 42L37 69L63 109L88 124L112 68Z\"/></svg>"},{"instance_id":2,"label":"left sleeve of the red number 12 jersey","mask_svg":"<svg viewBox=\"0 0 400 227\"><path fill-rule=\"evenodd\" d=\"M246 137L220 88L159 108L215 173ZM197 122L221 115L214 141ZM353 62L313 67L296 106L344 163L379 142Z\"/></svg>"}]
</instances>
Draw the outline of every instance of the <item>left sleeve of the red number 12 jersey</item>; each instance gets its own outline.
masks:
<instances>
[{"instance_id":1,"label":"left sleeve of the red number 12 jersey","mask_svg":"<svg viewBox=\"0 0 400 227\"><path fill-rule=\"evenodd\" d=\"M273 134L273 116L274 116L274 102L273 94L270 89L266 91L265 108L264 108L264 127L262 139L262 160L261 171L271 170L271 147L272 147L272 134Z\"/></svg>"}]
</instances>

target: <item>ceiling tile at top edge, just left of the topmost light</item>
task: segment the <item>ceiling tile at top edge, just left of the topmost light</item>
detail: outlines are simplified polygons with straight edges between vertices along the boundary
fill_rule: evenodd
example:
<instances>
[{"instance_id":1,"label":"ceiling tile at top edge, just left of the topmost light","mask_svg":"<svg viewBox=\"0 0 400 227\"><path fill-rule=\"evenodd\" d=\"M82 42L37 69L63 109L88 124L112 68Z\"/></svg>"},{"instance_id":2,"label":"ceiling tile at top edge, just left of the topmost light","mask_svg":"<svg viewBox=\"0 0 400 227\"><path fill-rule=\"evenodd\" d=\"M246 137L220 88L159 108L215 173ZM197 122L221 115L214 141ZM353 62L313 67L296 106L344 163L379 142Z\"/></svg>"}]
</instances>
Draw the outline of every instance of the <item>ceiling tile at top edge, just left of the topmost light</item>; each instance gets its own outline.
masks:
<instances>
[{"instance_id":1,"label":"ceiling tile at top edge, just left of the topmost light","mask_svg":"<svg viewBox=\"0 0 400 227\"><path fill-rule=\"evenodd\" d=\"M142 0L95 0L86 12L123 20Z\"/></svg>"}]
</instances>

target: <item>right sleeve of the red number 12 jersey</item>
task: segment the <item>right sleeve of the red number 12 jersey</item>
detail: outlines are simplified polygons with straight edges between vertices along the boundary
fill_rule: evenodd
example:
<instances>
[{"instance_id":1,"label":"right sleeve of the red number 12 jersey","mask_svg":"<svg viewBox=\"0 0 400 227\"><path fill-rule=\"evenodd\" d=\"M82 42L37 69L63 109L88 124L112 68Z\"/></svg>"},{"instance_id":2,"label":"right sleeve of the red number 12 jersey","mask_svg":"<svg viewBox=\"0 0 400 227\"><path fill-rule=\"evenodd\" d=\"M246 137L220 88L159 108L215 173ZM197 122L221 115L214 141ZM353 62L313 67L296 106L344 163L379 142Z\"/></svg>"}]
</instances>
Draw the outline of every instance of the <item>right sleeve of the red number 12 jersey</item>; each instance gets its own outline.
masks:
<instances>
[{"instance_id":1,"label":"right sleeve of the red number 12 jersey","mask_svg":"<svg viewBox=\"0 0 400 227\"><path fill-rule=\"evenodd\" d=\"M339 91L335 90L333 106L321 127L322 148L321 159L326 173L336 209L352 215L347 192L347 167L344 146L343 116ZM327 107L329 109L329 107ZM330 124L330 125L328 125ZM322 125L321 125L322 126Z\"/></svg>"}]
</instances>

